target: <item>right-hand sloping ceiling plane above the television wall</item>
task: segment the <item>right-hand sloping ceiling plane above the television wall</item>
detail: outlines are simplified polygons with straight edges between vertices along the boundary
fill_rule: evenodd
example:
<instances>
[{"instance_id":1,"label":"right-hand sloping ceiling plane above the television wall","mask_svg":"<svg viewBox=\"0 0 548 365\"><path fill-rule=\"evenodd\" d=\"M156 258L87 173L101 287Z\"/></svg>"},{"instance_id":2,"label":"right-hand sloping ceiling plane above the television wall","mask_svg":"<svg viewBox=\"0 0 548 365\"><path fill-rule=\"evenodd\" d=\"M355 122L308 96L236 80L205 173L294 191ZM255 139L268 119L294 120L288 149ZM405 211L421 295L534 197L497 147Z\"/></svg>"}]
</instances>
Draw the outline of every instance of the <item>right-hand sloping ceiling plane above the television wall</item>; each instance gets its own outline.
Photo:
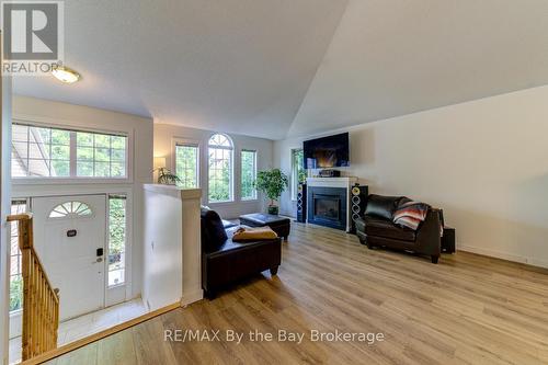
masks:
<instances>
[{"instance_id":1,"label":"right-hand sloping ceiling plane above the television wall","mask_svg":"<svg viewBox=\"0 0 548 365\"><path fill-rule=\"evenodd\" d=\"M351 0L288 134L546 83L546 0Z\"/></svg>"}]
</instances>

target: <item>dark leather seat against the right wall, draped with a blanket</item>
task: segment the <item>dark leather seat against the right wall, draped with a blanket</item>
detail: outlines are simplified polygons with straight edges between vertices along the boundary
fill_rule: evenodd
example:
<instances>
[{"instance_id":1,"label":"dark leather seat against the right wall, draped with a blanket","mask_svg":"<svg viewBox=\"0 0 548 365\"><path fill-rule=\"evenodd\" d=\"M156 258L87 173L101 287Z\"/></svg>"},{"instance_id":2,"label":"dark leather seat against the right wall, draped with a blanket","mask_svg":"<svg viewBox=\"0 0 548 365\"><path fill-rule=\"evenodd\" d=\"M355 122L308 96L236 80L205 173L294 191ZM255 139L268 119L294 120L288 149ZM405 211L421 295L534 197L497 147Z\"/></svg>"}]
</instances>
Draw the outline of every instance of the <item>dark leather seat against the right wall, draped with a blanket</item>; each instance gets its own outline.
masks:
<instances>
[{"instance_id":1,"label":"dark leather seat against the right wall, draped with a blanket","mask_svg":"<svg viewBox=\"0 0 548 365\"><path fill-rule=\"evenodd\" d=\"M386 247L429 255L437 263L441 250L441 212L429 208L419 229L402 228L392 223L392 215L400 204L410 202L406 196L369 195L365 214L356 220L356 235L367 248Z\"/></svg>"}]
</instances>

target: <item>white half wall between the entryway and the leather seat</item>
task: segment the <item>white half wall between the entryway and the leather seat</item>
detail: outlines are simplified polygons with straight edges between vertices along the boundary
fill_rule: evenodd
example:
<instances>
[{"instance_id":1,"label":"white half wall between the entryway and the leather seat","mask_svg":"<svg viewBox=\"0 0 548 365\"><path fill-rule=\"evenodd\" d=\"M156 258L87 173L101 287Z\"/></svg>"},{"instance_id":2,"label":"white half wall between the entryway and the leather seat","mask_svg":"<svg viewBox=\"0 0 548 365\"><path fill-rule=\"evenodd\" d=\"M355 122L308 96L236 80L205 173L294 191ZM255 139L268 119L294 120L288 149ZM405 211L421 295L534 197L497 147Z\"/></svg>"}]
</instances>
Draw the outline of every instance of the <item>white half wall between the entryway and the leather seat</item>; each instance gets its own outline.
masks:
<instances>
[{"instance_id":1,"label":"white half wall between the entryway and the leather seat","mask_svg":"<svg viewBox=\"0 0 548 365\"><path fill-rule=\"evenodd\" d=\"M145 185L142 299L149 310L201 300L199 189Z\"/></svg>"}]
</instances>

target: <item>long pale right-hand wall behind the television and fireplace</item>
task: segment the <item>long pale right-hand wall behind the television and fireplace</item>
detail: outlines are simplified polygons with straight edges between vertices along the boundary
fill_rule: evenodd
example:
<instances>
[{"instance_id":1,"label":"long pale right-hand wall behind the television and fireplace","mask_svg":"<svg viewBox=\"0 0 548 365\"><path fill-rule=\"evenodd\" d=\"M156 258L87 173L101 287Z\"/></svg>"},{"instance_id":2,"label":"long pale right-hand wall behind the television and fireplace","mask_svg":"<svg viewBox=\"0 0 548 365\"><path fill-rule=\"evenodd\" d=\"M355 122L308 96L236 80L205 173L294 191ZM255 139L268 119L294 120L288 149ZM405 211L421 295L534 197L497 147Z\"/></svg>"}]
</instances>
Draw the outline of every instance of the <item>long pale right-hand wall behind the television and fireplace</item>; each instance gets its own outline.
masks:
<instances>
[{"instance_id":1,"label":"long pale right-hand wall behind the television and fireplace","mask_svg":"<svg viewBox=\"0 0 548 365\"><path fill-rule=\"evenodd\" d=\"M347 128L344 173L442 207L460 250L548 267L547 101L541 87ZM275 142L286 173L302 140Z\"/></svg>"}]
</instances>

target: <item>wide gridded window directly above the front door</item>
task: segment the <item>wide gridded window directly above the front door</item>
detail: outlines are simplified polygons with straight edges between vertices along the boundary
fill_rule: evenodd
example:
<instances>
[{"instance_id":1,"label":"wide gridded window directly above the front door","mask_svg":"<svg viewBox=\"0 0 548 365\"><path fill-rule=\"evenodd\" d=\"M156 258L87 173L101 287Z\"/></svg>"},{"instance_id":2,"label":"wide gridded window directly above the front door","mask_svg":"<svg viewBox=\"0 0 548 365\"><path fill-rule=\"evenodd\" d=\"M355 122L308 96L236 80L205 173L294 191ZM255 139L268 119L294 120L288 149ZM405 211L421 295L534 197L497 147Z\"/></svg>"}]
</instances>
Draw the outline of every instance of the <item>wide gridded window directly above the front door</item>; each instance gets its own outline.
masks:
<instances>
[{"instance_id":1,"label":"wide gridded window directly above the front door","mask_svg":"<svg viewBox=\"0 0 548 365\"><path fill-rule=\"evenodd\" d=\"M13 178L127 176L127 137L14 124Z\"/></svg>"}]
</instances>

